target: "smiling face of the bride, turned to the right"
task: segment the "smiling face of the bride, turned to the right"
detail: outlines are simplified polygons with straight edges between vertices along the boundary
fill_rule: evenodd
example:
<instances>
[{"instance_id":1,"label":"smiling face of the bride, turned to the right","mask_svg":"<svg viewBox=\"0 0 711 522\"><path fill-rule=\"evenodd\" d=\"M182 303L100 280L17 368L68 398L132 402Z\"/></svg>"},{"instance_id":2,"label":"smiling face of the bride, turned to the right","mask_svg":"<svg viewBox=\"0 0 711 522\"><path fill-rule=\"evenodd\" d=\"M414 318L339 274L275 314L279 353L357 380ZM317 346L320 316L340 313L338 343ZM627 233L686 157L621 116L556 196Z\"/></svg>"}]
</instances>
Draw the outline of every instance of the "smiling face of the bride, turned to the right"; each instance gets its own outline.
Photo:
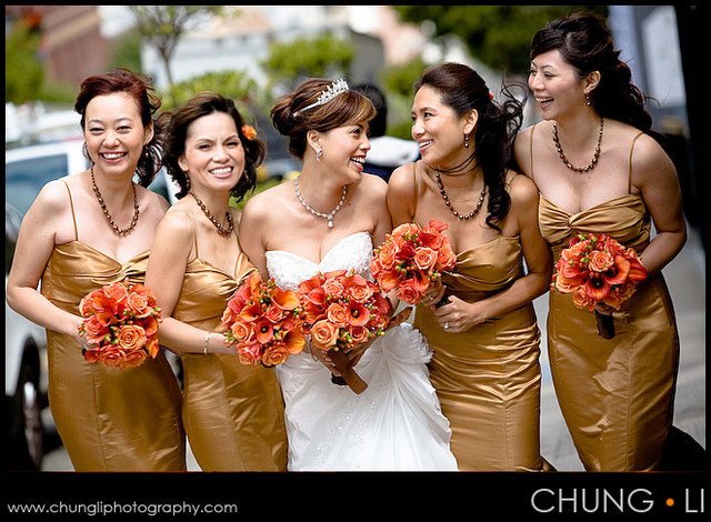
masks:
<instances>
[{"instance_id":1,"label":"smiling face of the bride, turned to the right","mask_svg":"<svg viewBox=\"0 0 711 522\"><path fill-rule=\"evenodd\" d=\"M321 163L332 172L342 173L347 182L358 182L370 150L368 121L337 127L320 132L318 145L323 150Z\"/></svg>"}]
</instances>

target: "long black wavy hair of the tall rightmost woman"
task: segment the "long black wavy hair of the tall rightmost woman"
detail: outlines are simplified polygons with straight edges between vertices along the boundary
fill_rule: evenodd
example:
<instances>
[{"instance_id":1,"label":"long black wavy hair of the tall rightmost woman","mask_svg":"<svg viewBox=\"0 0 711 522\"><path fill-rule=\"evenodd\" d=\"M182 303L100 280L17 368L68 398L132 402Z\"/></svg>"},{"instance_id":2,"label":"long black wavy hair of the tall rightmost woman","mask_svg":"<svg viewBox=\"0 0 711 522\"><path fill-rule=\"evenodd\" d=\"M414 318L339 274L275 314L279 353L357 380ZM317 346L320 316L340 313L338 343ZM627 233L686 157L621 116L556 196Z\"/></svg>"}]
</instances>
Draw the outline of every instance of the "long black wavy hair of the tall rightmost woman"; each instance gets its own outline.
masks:
<instances>
[{"instance_id":1,"label":"long black wavy hair of the tall rightmost woman","mask_svg":"<svg viewBox=\"0 0 711 522\"><path fill-rule=\"evenodd\" d=\"M590 102L603 118L623 121L648 132L652 117L644 110L650 98L632 83L632 71L614 50L605 20L592 12L574 12L551 21L531 42L531 60L548 51L559 51L580 78L600 71L600 83Z\"/></svg>"}]
</instances>

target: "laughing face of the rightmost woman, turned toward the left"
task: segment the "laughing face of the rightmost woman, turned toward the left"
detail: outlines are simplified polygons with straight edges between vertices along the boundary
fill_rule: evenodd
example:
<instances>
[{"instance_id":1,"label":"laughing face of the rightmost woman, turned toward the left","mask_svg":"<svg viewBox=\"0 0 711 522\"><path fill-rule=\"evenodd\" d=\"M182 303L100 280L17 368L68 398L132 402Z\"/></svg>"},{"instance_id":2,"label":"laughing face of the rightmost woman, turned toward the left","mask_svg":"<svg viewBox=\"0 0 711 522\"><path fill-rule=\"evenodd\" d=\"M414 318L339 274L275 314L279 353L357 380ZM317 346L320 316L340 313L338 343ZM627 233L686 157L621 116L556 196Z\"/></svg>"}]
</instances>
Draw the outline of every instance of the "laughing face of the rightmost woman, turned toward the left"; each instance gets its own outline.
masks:
<instances>
[{"instance_id":1,"label":"laughing face of the rightmost woman, turned toward the left","mask_svg":"<svg viewBox=\"0 0 711 522\"><path fill-rule=\"evenodd\" d=\"M547 120L558 120L583 108L585 87L585 79L557 50L531 60L529 88Z\"/></svg>"}]
</instances>

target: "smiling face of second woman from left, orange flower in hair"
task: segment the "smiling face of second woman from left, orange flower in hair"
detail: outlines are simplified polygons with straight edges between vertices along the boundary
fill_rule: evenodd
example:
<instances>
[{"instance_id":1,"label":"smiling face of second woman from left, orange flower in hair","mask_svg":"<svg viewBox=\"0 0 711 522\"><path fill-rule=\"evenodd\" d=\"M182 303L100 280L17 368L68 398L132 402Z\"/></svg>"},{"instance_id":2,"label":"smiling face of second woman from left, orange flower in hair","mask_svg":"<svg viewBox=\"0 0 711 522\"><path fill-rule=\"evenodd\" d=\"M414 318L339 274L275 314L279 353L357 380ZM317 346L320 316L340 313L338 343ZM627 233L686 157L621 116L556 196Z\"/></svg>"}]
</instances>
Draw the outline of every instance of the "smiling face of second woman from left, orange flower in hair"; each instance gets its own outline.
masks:
<instances>
[{"instance_id":1,"label":"smiling face of second woman from left, orange flower in hair","mask_svg":"<svg viewBox=\"0 0 711 522\"><path fill-rule=\"evenodd\" d=\"M232 117L212 112L190 123L178 164L190 174L192 187L232 189L244 172L244 148Z\"/></svg>"}]
</instances>

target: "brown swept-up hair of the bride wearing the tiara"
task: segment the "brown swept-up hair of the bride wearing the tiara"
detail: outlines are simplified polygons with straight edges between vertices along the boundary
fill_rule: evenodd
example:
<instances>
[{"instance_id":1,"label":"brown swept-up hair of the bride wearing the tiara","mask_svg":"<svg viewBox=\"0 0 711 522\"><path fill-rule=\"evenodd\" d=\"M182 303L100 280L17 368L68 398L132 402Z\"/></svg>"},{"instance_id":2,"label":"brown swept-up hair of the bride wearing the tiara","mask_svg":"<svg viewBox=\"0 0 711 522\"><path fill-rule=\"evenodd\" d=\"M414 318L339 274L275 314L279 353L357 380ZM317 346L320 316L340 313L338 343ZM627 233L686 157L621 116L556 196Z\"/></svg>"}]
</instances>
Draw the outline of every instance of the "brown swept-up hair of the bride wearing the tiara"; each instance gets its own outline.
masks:
<instances>
[{"instance_id":1,"label":"brown swept-up hair of the bride wearing the tiara","mask_svg":"<svg viewBox=\"0 0 711 522\"><path fill-rule=\"evenodd\" d=\"M332 80L310 78L296 91L284 94L270 116L280 134L289 137L289 151L303 159L307 149L307 132L327 132L356 121L369 121L375 116L372 102L360 92L349 89L322 106L300 111L314 103L322 91L331 87Z\"/></svg>"}]
</instances>

